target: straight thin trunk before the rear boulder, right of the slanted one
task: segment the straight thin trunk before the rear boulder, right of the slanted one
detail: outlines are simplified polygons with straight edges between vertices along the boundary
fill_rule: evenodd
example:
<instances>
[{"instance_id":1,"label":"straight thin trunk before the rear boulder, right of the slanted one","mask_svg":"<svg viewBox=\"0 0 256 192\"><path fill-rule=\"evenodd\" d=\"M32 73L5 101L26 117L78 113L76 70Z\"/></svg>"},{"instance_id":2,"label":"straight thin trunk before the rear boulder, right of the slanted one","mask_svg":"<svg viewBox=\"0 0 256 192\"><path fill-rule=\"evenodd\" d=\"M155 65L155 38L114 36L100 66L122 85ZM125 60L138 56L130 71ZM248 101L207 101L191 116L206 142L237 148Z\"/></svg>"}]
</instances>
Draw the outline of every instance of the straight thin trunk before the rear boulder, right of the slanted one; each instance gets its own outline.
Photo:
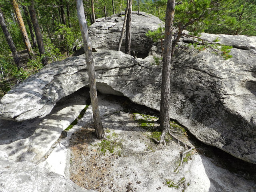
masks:
<instances>
[{"instance_id":1,"label":"straight thin trunk before the rear boulder, right of the slanted one","mask_svg":"<svg viewBox=\"0 0 256 192\"><path fill-rule=\"evenodd\" d=\"M132 0L129 1L129 9L126 21L125 53L131 54L131 29L132 29Z\"/></svg>"}]
</instances>

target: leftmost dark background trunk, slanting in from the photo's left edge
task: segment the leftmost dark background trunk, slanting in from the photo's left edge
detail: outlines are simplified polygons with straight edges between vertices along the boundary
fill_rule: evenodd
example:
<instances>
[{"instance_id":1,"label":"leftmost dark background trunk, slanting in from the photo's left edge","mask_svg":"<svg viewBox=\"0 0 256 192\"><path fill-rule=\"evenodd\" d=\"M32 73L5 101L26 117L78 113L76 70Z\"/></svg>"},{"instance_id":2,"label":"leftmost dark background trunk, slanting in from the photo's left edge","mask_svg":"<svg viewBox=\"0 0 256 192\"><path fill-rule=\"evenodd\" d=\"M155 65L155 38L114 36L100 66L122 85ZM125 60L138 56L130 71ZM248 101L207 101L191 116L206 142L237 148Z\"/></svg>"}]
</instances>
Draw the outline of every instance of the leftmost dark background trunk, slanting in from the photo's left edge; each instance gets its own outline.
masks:
<instances>
[{"instance_id":1,"label":"leftmost dark background trunk, slanting in from the photo's left edge","mask_svg":"<svg viewBox=\"0 0 256 192\"><path fill-rule=\"evenodd\" d=\"M12 51L12 56L14 58L14 62L16 64L17 68L20 68L20 67L22 67L22 63L20 62L20 58L18 56L18 52L17 52L14 42L12 40L12 36L10 35L8 28L5 24L4 16L3 16L1 9L0 9L0 25L2 27L2 30L3 30L6 40L8 42L8 45L10 47L10 50Z\"/></svg>"}]
</instances>

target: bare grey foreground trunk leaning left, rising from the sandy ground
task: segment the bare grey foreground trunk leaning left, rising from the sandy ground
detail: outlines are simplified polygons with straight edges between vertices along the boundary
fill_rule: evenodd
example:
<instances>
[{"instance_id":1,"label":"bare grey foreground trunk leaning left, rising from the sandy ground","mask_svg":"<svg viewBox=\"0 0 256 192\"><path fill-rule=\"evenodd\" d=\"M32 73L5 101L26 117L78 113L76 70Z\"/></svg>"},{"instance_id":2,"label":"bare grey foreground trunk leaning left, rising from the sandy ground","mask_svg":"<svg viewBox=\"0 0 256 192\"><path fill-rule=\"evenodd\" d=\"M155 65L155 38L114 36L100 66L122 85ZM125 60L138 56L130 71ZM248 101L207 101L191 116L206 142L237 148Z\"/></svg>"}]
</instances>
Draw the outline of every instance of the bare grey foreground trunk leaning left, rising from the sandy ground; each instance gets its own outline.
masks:
<instances>
[{"instance_id":1,"label":"bare grey foreground trunk leaning left, rising from the sandy ground","mask_svg":"<svg viewBox=\"0 0 256 192\"><path fill-rule=\"evenodd\" d=\"M98 106L96 78L94 71L94 61L92 57L92 44L89 40L87 22L84 16L84 6L82 0L76 0L76 10L78 15L78 21L80 24L80 30L84 42L85 60L88 69L89 83L90 83L90 96L92 102L93 120L95 125L95 132L98 139L106 139L102 123L100 120L100 111Z\"/></svg>"}]
</instances>

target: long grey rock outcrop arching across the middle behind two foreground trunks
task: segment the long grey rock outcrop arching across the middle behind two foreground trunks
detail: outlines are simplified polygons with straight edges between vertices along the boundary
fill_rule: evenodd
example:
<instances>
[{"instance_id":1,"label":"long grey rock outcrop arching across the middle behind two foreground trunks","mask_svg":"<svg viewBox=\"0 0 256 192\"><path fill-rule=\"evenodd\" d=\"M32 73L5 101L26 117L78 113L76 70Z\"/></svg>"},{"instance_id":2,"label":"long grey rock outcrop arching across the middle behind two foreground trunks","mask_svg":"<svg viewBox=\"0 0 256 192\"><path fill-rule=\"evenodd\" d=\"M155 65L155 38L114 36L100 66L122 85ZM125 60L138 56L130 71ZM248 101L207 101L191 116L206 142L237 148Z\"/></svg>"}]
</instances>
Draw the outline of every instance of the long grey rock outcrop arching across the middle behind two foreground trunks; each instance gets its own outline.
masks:
<instances>
[{"instance_id":1,"label":"long grey rock outcrop arching across the middle behind two foreground trunks","mask_svg":"<svg viewBox=\"0 0 256 192\"><path fill-rule=\"evenodd\" d=\"M104 24L107 22L97 22ZM210 50L178 49L172 65L170 118L202 142L256 163L256 37L201 37L218 37L222 44L232 45L233 57L224 60ZM186 45L188 40L182 40L180 44ZM156 50L152 47L152 52ZM95 52L98 90L159 110L161 65L148 62L150 57L135 59L122 52ZM60 98L88 85L86 73L82 57L49 64L2 98L1 118L45 116Z\"/></svg>"}]
</instances>

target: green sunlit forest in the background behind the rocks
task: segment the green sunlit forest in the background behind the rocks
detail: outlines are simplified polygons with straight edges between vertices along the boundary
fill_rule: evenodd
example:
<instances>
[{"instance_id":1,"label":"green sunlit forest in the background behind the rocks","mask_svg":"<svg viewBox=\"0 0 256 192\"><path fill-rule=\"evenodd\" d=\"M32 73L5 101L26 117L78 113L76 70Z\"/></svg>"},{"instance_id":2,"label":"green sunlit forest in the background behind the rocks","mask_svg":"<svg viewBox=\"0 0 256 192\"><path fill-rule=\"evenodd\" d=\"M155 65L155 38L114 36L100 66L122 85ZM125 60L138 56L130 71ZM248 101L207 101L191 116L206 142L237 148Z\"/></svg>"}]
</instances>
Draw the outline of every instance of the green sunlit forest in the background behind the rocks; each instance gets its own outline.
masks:
<instances>
[{"instance_id":1,"label":"green sunlit forest in the background behind the rocks","mask_svg":"<svg viewBox=\"0 0 256 192\"><path fill-rule=\"evenodd\" d=\"M14 2L18 4L34 52L34 56L31 58L22 57L22 54L26 52L24 51L26 46L15 14ZM31 27L33 26L32 20L28 13L31 2L34 2L44 53L39 51L38 43L35 40L35 31ZM126 8L126 0L88 0L83 2L88 25L94 22L92 4L96 19L119 14ZM204 13L205 9L213 9L207 6L212 2L216 2L218 5L214 8L218 12ZM167 0L134 0L132 10L148 12L164 21L166 3ZM38 72L44 66L42 59L45 56L48 58L48 63L60 61L82 46L74 0L0 0L0 9L18 55L22 58L22 67L17 67L4 32L0 30L0 94L2 95L30 74ZM200 20L202 15L207 19ZM178 0L174 26L178 28L179 25L190 23L192 20L198 20L198 22L188 25L186 30L196 36L200 32L256 36L256 0Z\"/></svg>"}]
</instances>

